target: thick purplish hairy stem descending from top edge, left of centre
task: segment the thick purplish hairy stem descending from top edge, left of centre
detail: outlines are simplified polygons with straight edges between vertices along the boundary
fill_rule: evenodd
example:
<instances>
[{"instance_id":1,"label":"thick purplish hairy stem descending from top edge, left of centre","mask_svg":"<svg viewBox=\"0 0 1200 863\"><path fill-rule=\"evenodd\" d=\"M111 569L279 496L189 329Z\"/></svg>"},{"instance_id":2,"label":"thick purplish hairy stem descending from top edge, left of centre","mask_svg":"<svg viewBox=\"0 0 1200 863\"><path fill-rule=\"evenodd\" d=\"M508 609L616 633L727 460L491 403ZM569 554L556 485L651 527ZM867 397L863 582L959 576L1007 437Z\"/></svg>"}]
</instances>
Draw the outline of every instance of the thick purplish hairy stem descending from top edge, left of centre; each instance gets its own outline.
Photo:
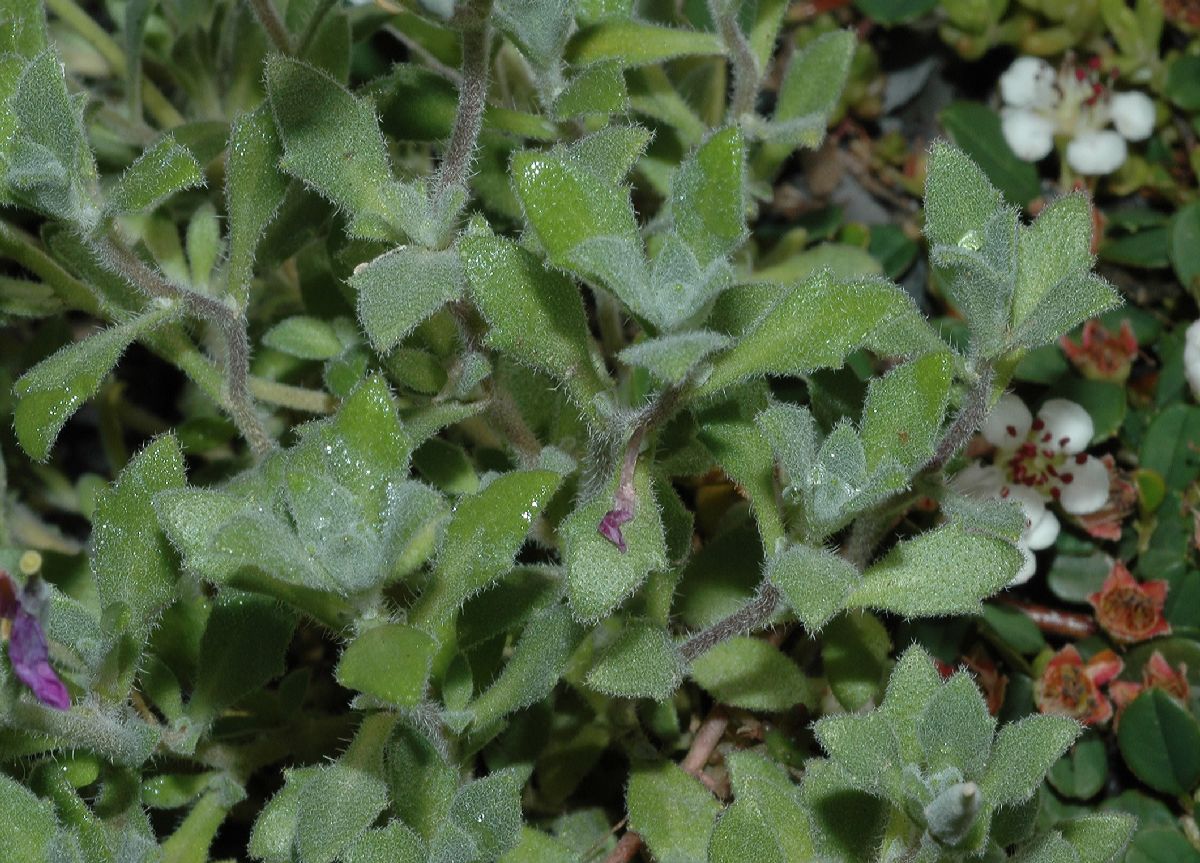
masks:
<instances>
[{"instance_id":1,"label":"thick purplish hairy stem descending from top edge, left of centre","mask_svg":"<svg viewBox=\"0 0 1200 863\"><path fill-rule=\"evenodd\" d=\"M433 178L432 198L438 202L449 190L462 185L475 158L475 144L484 126L487 106L487 60L490 31L487 17L491 0L476 0L462 13L462 83L454 130Z\"/></svg>"}]
</instances>

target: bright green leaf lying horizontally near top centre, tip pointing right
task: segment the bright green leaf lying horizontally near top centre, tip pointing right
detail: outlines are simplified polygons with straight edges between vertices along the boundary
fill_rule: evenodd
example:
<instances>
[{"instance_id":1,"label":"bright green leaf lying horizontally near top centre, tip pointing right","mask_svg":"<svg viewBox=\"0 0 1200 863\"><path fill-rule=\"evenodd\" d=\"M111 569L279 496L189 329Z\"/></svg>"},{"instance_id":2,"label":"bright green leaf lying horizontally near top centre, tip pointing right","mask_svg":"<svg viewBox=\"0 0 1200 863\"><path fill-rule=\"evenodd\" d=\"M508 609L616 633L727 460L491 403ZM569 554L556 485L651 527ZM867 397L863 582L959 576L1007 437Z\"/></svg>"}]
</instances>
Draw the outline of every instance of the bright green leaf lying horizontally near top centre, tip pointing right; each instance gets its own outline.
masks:
<instances>
[{"instance_id":1,"label":"bright green leaf lying horizontally near top centre, tip pointing right","mask_svg":"<svg viewBox=\"0 0 1200 863\"><path fill-rule=\"evenodd\" d=\"M566 46L566 58L576 66L607 60L622 66L649 66L679 56L724 53L725 47L715 34L620 18L581 30Z\"/></svg>"}]
</instances>

